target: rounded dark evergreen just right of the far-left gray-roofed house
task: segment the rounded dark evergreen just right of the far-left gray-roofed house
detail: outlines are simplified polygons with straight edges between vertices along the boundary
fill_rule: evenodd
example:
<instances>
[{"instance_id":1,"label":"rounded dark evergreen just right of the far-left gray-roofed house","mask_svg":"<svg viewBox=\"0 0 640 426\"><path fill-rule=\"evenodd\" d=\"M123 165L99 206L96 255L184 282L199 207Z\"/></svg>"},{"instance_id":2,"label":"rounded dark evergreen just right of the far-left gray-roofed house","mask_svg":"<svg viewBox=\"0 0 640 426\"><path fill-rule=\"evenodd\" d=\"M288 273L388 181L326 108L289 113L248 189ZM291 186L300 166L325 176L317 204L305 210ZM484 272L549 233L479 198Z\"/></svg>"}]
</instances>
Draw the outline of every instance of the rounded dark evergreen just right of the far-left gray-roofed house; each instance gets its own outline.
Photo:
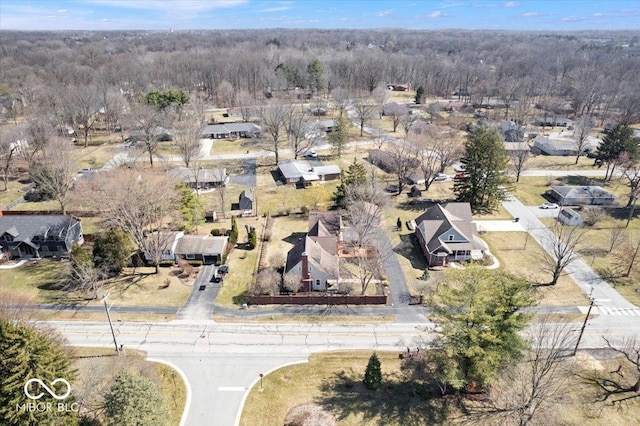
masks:
<instances>
[{"instance_id":1,"label":"rounded dark evergreen just right of the far-left gray-roofed house","mask_svg":"<svg viewBox=\"0 0 640 426\"><path fill-rule=\"evenodd\" d=\"M118 275L135 252L136 246L124 231L111 228L93 242L93 263L110 275Z\"/></svg>"}]
</instances>

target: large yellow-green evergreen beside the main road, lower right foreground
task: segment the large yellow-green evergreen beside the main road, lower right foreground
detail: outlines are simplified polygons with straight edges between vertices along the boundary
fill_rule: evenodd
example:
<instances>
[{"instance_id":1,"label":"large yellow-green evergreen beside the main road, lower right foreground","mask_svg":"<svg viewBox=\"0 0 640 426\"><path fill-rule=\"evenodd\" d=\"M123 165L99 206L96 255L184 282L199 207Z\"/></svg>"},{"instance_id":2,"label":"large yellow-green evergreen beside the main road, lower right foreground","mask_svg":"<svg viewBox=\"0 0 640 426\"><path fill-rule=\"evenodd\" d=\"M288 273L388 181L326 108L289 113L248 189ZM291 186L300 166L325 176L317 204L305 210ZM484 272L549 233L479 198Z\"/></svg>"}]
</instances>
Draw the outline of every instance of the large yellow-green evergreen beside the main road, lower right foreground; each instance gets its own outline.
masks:
<instances>
[{"instance_id":1,"label":"large yellow-green evergreen beside the main road, lower right foreground","mask_svg":"<svg viewBox=\"0 0 640 426\"><path fill-rule=\"evenodd\" d=\"M452 271L434 299L442 332L434 340L441 350L438 380L463 389L491 384L505 366L526 349L519 332L535 303L531 285L504 272L480 266Z\"/></svg>"}]
</instances>

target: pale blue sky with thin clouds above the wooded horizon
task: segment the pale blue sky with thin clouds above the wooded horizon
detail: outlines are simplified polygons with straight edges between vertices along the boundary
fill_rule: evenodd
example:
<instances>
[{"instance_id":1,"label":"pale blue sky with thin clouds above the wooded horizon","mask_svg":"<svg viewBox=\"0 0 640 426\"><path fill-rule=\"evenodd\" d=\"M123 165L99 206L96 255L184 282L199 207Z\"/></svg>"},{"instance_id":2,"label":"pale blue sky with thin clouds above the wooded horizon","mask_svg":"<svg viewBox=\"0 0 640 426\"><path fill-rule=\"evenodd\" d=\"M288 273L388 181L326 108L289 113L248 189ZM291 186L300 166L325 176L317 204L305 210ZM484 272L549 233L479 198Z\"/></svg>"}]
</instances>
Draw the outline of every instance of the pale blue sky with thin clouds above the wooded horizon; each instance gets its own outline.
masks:
<instances>
[{"instance_id":1,"label":"pale blue sky with thin clouds above the wooded horizon","mask_svg":"<svg viewBox=\"0 0 640 426\"><path fill-rule=\"evenodd\" d=\"M640 0L0 0L0 30L638 30Z\"/></svg>"}]
</instances>

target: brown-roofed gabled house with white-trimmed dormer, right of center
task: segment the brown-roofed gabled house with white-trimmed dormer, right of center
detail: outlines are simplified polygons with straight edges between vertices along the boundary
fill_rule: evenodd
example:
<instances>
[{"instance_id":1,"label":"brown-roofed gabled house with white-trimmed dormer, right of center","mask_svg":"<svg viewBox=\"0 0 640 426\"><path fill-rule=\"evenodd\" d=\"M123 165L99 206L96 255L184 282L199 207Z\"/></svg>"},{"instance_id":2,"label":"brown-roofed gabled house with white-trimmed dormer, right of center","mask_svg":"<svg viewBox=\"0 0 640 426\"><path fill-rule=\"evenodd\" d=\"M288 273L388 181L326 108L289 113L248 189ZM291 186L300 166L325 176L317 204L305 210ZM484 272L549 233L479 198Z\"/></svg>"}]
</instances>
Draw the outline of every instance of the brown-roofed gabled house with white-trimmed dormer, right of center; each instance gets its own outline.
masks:
<instances>
[{"instance_id":1,"label":"brown-roofed gabled house with white-trimmed dormer, right of center","mask_svg":"<svg viewBox=\"0 0 640 426\"><path fill-rule=\"evenodd\" d=\"M469 203L436 204L413 222L416 238L429 266L480 260L488 250L472 222Z\"/></svg>"}]
</instances>

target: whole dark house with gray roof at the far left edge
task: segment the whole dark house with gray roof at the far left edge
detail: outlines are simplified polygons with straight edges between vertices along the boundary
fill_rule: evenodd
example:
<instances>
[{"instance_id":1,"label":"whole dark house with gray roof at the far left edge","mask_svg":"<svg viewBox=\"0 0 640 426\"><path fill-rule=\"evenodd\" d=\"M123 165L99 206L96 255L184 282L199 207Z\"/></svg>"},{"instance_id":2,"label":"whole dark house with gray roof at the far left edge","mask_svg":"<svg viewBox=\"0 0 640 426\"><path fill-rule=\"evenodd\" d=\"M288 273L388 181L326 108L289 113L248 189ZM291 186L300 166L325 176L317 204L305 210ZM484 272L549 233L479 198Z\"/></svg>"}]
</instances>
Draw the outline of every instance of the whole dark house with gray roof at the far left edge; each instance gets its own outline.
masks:
<instances>
[{"instance_id":1,"label":"whole dark house with gray roof at the far left edge","mask_svg":"<svg viewBox=\"0 0 640 426\"><path fill-rule=\"evenodd\" d=\"M82 224L73 216L0 213L0 249L9 257L68 256L73 243L83 242Z\"/></svg>"}]
</instances>

